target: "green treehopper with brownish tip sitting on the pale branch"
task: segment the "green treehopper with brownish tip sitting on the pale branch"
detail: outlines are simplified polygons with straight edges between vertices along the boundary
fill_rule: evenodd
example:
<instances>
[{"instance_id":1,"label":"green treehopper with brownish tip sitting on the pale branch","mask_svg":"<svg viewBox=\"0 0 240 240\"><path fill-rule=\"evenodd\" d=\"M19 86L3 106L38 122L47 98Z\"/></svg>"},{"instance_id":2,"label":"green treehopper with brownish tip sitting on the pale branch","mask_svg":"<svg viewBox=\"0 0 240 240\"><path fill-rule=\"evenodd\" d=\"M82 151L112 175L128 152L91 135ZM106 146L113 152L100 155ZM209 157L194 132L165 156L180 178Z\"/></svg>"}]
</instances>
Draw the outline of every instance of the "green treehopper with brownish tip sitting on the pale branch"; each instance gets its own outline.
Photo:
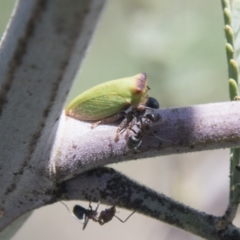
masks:
<instances>
[{"instance_id":1,"label":"green treehopper with brownish tip sitting on the pale branch","mask_svg":"<svg viewBox=\"0 0 240 240\"><path fill-rule=\"evenodd\" d=\"M147 75L139 73L99 84L73 99L65 113L78 120L94 122L92 128L101 123L117 121L126 116L126 111L144 109L148 100L147 83ZM120 124L117 135L129 122L131 119ZM115 140L118 140L118 136Z\"/></svg>"}]
</instances>

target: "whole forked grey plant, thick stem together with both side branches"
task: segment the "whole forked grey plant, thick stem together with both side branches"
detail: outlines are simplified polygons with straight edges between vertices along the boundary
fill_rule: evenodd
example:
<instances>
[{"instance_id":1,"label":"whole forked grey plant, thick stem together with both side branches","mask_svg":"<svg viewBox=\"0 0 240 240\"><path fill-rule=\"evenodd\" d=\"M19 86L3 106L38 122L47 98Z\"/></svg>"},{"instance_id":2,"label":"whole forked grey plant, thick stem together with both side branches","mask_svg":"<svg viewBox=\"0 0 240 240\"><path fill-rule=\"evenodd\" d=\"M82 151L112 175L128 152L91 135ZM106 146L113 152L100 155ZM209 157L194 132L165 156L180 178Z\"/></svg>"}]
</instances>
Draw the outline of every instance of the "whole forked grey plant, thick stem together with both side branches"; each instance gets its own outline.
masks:
<instances>
[{"instance_id":1,"label":"whole forked grey plant, thick stem together with both side branches","mask_svg":"<svg viewBox=\"0 0 240 240\"><path fill-rule=\"evenodd\" d=\"M114 141L116 125L92 130L61 115L103 4L18 2L0 51L1 239L9 239L33 209L62 199L135 209L209 239L238 237L239 229L224 219L184 207L119 173L86 172L146 156L236 147L240 139L239 102L159 110L161 121L144 135L138 152L127 149L124 134ZM175 219L165 204L175 208Z\"/></svg>"}]
</instances>

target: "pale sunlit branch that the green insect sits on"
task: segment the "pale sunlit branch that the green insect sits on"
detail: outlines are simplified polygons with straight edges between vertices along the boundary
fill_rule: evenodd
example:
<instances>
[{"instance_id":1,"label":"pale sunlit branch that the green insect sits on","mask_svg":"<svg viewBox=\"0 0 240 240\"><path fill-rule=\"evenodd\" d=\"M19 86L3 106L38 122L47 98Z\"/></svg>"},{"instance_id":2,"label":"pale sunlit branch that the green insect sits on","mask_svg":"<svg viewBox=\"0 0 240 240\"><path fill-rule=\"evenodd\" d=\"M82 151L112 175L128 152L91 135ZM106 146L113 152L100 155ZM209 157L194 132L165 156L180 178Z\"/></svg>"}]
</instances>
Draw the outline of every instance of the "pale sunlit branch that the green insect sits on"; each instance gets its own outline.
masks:
<instances>
[{"instance_id":1,"label":"pale sunlit branch that the green insect sits on","mask_svg":"<svg viewBox=\"0 0 240 240\"><path fill-rule=\"evenodd\" d=\"M100 125L91 129L91 123L63 114L51 169L62 181L110 163L236 147L240 144L239 109L240 102L226 102L157 110L161 120L151 127L155 136L145 135L138 152L127 148L125 134L121 135L119 142L114 141L117 125Z\"/></svg>"}]
</instances>

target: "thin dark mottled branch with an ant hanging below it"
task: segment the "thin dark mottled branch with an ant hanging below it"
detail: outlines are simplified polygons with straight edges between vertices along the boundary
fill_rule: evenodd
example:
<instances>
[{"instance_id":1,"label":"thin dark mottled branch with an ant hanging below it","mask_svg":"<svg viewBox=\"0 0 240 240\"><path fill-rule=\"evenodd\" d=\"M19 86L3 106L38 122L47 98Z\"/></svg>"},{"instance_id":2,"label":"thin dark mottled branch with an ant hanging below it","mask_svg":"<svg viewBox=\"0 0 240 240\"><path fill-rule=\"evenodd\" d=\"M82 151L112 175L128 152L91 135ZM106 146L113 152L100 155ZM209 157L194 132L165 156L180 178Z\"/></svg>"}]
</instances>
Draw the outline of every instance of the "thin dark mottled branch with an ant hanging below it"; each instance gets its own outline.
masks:
<instances>
[{"instance_id":1,"label":"thin dark mottled branch with an ant hanging below it","mask_svg":"<svg viewBox=\"0 0 240 240\"><path fill-rule=\"evenodd\" d=\"M184 206L142 186L110 168L98 168L67 180L63 199L99 200L136 210L206 239L238 239L240 229L215 217Z\"/></svg>"}]
</instances>

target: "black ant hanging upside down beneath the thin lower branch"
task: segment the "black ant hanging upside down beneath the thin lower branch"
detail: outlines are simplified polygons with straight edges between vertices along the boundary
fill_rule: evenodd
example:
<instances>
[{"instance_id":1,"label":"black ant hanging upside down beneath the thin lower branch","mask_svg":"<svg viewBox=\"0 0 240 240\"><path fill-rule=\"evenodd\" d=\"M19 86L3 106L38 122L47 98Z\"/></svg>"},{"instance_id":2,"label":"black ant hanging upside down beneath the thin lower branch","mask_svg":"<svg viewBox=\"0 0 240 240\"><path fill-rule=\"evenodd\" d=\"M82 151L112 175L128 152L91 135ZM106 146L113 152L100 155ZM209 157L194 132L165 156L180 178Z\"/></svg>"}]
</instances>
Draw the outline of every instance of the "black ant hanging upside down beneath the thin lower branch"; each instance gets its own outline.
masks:
<instances>
[{"instance_id":1,"label":"black ant hanging upside down beneath the thin lower branch","mask_svg":"<svg viewBox=\"0 0 240 240\"><path fill-rule=\"evenodd\" d=\"M69 212L71 212L68 208L68 206L61 202L65 207L68 209ZM75 205L73 207L73 211L71 214L76 217L77 219L81 220L83 222L83 230L86 228L89 219L92 219L94 222L98 222L100 225L104 225L105 223L112 220L113 217L117 218L120 222L125 223L132 215L135 213L133 211L124 221L120 219L118 216L115 215L116 213L116 207L112 206L109 208L106 208L102 210L100 213L97 211L98 207L100 205L100 202L98 202L97 207L95 210L92 209L91 202L89 203L89 209L86 209L80 205Z\"/></svg>"}]
</instances>

